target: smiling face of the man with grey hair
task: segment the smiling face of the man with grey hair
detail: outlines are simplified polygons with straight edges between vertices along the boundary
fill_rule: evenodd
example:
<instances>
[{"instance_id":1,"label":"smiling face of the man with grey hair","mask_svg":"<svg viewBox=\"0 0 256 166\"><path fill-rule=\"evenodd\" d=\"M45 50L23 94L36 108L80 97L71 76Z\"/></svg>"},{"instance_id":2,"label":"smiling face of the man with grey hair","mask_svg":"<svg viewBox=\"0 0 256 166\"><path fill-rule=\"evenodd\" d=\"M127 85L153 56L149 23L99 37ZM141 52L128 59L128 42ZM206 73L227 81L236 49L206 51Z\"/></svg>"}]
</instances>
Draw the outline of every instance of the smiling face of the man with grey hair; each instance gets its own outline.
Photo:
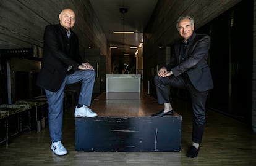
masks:
<instances>
[{"instance_id":1,"label":"smiling face of the man with grey hair","mask_svg":"<svg viewBox=\"0 0 256 166\"><path fill-rule=\"evenodd\" d=\"M191 25L189 19L181 20L178 24L179 27L179 34L182 36L182 38L187 41L189 37L193 34L194 25Z\"/></svg>"}]
</instances>

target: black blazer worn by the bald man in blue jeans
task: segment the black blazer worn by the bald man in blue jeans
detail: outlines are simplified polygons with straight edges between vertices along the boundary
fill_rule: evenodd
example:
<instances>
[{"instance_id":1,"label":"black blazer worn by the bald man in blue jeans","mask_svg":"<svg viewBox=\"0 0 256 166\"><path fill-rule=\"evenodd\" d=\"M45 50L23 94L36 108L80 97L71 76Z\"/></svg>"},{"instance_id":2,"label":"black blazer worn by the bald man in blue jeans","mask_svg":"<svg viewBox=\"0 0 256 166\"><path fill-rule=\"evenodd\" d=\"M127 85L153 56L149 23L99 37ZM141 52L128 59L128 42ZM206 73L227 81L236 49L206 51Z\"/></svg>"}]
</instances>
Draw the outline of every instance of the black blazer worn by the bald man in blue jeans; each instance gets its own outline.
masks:
<instances>
[{"instance_id":1,"label":"black blazer worn by the bald man in blue jeans","mask_svg":"<svg viewBox=\"0 0 256 166\"><path fill-rule=\"evenodd\" d=\"M60 24L46 26L43 35L43 58L36 84L56 92L66 77L67 68L70 66L77 69L80 63L82 59L79 55L79 40L74 31L71 31L68 39L66 29Z\"/></svg>"}]
</instances>

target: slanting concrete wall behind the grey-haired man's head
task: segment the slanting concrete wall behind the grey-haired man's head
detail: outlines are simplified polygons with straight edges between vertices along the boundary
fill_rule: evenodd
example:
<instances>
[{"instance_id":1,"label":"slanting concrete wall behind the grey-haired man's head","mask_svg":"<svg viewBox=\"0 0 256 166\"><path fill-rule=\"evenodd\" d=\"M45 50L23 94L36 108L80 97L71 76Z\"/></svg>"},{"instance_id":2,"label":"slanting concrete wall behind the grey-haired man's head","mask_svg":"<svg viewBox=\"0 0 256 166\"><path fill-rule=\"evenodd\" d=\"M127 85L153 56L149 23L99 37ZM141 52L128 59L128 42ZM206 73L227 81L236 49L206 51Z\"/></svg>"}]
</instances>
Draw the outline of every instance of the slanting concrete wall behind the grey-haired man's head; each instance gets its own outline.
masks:
<instances>
[{"instance_id":1,"label":"slanting concrete wall behind the grey-haired man's head","mask_svg":"<svg viewBox=\"0 0 256 166\"><path fill-rule=\"evenodd\" d=\"M195 29L213 20L241 0L206 0L206 1L158 1L150 24L144 33L144 54L153 55L158 47L173 44L179 38L176 20L181 15L192 15L195 18Z\"/></svg>"}]
</instances>

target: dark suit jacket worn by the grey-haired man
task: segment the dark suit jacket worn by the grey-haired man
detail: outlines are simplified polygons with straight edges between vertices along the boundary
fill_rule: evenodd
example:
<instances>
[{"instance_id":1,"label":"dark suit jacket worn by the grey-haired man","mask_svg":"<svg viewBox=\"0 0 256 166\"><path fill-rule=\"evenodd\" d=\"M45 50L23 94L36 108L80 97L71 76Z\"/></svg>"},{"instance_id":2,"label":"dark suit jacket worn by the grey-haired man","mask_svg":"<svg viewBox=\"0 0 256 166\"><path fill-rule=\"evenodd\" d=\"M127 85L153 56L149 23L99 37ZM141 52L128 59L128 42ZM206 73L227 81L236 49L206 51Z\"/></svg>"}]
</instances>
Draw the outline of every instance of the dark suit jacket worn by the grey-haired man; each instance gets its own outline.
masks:
<instances>
[{"instance_id":1,"label":"dark suit jacket worn by the grey-haired man","mask_svg":"<svg viewBox=\"0 0 256 166\"><path fill-rule=\"evenodd\" d=\"M192 34L192 39L187 45L185 60L180 63L181 41L174 45L171 62L166 66L168 71L173 71L174 76L187 72L189 79L198 91L213 88L213 80L208 67L208 50L210 49L210 36L205 34ZM182 39L183 40L183 39Z\"/></svg>"}]
</instances>

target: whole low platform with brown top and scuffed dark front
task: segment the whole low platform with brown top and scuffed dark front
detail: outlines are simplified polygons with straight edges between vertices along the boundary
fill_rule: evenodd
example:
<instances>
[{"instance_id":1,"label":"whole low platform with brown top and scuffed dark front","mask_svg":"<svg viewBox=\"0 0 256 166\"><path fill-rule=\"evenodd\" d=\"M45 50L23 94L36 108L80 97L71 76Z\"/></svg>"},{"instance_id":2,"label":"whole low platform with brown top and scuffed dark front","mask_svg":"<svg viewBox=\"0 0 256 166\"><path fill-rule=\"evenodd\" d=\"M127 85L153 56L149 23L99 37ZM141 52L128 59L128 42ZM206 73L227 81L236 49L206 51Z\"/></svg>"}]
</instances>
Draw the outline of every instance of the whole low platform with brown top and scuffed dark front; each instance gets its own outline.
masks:
<instances>
[{"instance_id":1,"label":"whole low platform with brown top and scuffed dark front","mask_svg":"<svg viewBox=\"0 0 256 166\"><path fill-rule=\"evenodd\" d=\"M182 117L151 117L163 105L146 93L103 93L91 108L98 117L75 118L77 151L181 151Z\"/></svg>"}]
</instances>

